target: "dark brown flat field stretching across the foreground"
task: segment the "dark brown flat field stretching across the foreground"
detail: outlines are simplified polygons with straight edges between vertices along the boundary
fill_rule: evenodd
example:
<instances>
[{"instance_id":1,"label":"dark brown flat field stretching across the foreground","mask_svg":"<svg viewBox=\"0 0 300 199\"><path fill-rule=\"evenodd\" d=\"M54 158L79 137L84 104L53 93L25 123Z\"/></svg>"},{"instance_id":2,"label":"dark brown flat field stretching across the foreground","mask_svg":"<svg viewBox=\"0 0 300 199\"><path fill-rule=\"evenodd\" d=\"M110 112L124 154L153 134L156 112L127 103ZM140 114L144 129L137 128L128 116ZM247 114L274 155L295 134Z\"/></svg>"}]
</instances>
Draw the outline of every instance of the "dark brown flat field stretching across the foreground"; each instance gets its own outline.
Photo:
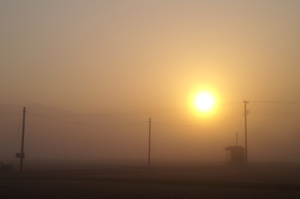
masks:
<instances>
[{"instance_id":1,"label":"dark brown flat field stretching across the foreground","mask_svg":"<svg viewBox=\"0 0 300 199\"><path fill-rule=\"evenodd\" d=\"M24 165L0 198L300 198L300 164Z\"/></svg>"}]
</instances>

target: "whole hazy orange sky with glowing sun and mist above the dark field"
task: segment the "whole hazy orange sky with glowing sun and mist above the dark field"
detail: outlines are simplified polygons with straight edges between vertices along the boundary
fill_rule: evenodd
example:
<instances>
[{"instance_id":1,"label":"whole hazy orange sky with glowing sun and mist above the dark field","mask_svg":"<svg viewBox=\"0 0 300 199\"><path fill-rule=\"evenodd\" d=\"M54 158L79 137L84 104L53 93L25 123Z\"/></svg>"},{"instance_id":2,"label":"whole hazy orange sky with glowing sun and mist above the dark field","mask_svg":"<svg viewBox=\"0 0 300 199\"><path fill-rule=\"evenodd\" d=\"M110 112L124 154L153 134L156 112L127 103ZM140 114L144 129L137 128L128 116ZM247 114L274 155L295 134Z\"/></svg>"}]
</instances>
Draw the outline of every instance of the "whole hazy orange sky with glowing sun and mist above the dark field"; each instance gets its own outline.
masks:
<instances>
[{"instance_id":1,"label":"whole hazy orange sky with glowing sun and mist above the dark field","mask_svg":"<svg viewBox=\"0 0 300 199\"><path fill-rule=\"evenodd\" d=\"M247 100L249 161L299 162L300 105L254 102L300 102L298 7L1 1L0 158L20 150L25 104L28 159L144 161L152 118L151 160L223 162L237 132L245 146Z\"/></svg>"}]
</instances>

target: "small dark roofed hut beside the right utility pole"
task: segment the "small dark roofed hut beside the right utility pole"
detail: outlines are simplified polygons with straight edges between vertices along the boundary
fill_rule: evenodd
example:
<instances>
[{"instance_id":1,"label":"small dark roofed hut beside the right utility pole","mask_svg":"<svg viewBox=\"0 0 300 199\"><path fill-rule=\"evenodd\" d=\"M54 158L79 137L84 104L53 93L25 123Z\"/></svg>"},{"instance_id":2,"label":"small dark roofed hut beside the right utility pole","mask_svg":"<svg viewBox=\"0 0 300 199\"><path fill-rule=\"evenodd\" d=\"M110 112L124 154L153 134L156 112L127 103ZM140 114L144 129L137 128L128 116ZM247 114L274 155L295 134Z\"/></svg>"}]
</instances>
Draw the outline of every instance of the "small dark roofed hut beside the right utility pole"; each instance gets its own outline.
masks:
<instances>
[{"instance_id":1,"label":"small dark roofed hut beside the right utility pole","mask_svg":"<svg viewBox=\"0 0 300 199\"><path fill-rule=\"evenodd\" d=\"M229 146L226 147L227 164L240 164L245 162L245 148L242 146ZM229 152L228 152L229 151Z\"/></svg>"}]
</instances>

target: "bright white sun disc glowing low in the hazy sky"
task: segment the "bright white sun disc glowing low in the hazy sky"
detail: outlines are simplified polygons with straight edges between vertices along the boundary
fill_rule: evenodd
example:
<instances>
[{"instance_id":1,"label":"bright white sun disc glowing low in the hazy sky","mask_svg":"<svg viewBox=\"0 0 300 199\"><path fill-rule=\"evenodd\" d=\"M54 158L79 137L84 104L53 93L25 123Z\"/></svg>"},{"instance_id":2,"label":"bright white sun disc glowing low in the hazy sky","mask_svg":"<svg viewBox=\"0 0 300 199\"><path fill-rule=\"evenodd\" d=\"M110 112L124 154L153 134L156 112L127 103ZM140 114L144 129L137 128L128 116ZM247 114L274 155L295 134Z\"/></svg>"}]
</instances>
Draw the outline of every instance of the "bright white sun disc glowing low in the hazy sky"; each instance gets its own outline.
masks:
<instances>
[{"instance_id":1,"label":"bright white sun disc glowing low in the hazy sky","mask_svg":"<svg viewBox=\"0 0 300 199\"><path fill-rule=\"evenodd\" d=\"M197 111L207 113L214 108L215 97L209 91L200 91L195 95L193 104Z\"/></svg>"}]
</instances>

